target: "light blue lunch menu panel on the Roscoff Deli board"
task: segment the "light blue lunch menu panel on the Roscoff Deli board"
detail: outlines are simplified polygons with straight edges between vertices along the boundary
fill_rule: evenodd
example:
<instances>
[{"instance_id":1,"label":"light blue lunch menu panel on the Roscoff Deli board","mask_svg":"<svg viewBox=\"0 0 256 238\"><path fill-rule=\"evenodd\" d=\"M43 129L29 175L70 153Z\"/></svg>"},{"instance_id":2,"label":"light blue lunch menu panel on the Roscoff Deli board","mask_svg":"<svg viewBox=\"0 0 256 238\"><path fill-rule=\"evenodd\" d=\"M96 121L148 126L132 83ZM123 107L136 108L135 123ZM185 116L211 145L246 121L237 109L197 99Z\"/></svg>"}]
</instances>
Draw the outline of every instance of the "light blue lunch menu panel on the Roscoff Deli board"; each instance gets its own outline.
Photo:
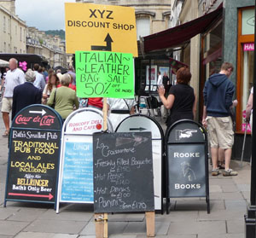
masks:
<instances>
[{"instance_id":1,"label":"light blue lunch menu panel on the Roscoff Deli board","mask_svg":"<svg viewBox=\"0 0 256 238\"><path fill-rule=\"evenodd\" d=\"M93 163L90 142L66 142L61 200L93 202Z\"/></svg>"}]
</instances>

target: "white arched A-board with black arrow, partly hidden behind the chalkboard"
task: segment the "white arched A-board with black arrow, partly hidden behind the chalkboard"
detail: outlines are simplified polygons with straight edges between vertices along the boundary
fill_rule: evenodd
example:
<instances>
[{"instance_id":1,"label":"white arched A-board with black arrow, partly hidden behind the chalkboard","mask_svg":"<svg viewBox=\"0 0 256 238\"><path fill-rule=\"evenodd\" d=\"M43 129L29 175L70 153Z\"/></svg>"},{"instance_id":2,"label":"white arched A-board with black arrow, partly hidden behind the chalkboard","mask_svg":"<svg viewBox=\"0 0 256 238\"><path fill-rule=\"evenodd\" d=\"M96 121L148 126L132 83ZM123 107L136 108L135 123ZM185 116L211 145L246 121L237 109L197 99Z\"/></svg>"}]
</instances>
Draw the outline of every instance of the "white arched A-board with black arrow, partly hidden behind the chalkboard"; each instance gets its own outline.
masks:
<instances>
[{"instance_id":1,"label":"white arched A-board with black arrow, partly hidden behind the chalkboard","mask_svg":"<svg viewBox=\"0 0 256 238\"><path fill-rule=\"evenodd\" d=\"M132 115L121 121L116 132L151 132L154 171L154 208L163 212L163 139L164 132L159 123L145 115Z\"/></svg>"}]
</instances>

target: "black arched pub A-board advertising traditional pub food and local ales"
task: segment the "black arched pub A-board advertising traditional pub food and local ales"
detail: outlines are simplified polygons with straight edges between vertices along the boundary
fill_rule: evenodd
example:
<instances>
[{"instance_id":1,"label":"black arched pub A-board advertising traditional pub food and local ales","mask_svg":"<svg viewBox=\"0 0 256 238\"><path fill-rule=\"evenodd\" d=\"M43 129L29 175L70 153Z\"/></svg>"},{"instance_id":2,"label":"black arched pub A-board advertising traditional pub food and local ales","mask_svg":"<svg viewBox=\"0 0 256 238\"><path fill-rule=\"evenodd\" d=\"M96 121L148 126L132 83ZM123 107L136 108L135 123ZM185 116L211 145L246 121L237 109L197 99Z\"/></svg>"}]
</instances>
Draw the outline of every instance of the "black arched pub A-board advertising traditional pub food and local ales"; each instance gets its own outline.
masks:
<instances>
[{"instance_id":1,"label":"black arched pub A-board advertising traditional pub food and local ales","mask_svg":"<svg viewBox=\"0 0 256 238\"><path fill-rule=\"evenodd\" d=\"M61 116L51 107L32 105L12 122L6 201L55 203L61 148Z\"/></svg>"}]
</instances>

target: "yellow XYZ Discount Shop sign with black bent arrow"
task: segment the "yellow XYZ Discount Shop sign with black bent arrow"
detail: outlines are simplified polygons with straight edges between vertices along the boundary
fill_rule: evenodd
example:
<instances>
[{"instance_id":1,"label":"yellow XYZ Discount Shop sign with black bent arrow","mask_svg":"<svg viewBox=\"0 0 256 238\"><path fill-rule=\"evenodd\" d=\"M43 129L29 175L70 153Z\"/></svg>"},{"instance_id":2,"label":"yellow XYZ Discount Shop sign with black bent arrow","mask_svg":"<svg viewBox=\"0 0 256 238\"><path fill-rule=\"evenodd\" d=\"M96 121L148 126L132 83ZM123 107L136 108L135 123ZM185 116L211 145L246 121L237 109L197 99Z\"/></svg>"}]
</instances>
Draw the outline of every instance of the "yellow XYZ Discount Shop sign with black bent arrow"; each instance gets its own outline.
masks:
<instances>
[{"instance_id":1,"label":"yellow XYZ Discount Shop sign with black bent arrow","mask_svg":"<svg viewBox=\"0 0 256 238\"><path fill-rule=\"evenodd\" d=\"M105 50L137 57L133 8L87 3L65 3L66 51Z\"/></svg>"}]
</instances>

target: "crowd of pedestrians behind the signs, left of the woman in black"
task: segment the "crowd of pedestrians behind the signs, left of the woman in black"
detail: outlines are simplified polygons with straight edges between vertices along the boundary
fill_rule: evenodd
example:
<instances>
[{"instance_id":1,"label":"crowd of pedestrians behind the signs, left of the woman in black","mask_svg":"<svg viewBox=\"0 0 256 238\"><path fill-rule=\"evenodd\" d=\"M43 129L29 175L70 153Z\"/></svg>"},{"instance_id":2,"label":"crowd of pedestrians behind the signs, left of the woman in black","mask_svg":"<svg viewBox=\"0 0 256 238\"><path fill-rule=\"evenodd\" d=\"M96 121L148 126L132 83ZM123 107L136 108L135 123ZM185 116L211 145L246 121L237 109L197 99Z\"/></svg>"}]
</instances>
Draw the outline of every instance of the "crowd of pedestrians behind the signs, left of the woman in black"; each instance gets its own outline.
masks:
<instances>
[{"instance_id":1,"label":"crowd of pedestrians behind the signs, left of the woman in black","mask_svg":"<svg viewBox=\"0 0 256 238\"><path fill-rule=\"evenodd\" d=\"M55 108L63 121L67 116L79 107L94 107L102 110L102 97L78 98L76 96L76 74L73 66L68 67L65 74L61 70L56 72L49 68L48 73L38 64L34 64L33 70L28 69L24 73L18 68L18 61L9 60L9 68L3 78L2 113L5 131L3 136L9 136L11 119L24 107L32 104L44 104ZM135 100L133 99L108 99L109 118L113 124L113 130L121 119L134 113Z\"/></svg>"}]
</instances>

